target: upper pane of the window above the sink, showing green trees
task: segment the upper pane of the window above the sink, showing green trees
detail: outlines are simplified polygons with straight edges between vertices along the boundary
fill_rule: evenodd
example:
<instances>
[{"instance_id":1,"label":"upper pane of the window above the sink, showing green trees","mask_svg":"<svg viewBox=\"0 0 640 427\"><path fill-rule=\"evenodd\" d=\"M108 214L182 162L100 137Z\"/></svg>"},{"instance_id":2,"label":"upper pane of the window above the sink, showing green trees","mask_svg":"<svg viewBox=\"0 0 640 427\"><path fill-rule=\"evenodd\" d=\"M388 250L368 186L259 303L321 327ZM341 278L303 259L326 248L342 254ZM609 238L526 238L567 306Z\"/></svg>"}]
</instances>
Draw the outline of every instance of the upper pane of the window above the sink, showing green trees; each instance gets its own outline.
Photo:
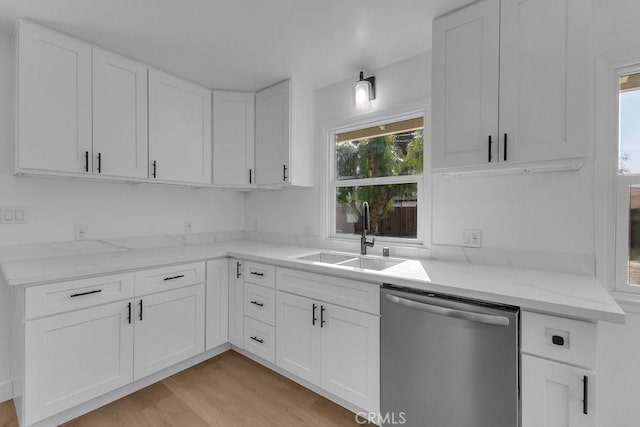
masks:
<instances>
[{"instance_id":1,"label":"upper pane of the window above the sink, showing green trees","mask_svg":"<svg viewBox=\"0 0 640 427\"><path fill-rule=\"evenodd\" d=\"M422 119L338 134L335 147L338 180L421 174Z\"/></svg>"}]
</instances>

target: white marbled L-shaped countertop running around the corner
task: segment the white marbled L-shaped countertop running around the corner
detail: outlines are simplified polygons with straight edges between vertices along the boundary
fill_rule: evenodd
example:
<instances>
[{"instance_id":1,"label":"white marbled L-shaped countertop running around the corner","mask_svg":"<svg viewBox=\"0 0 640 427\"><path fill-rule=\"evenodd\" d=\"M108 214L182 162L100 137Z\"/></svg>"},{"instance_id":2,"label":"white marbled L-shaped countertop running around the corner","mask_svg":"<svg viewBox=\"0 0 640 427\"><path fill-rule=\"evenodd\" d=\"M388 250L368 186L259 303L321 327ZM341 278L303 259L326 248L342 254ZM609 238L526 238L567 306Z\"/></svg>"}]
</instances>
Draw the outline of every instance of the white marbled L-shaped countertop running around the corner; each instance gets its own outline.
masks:
<instances>
[{"instance_id":1,"label":"white marbled L-shaped countertop running around the corner","mask_svg":"<svg viewBox=\"0 0 640 427\"><path fill-rule=\"evenodd\" d=\"M237 257L314 273L389 283L519 306L588 321L624 323L624 311L594 278L542 270L409 259L383 271L296 259L318 248L250 240L185 242L176 236L0 247L9 286L33 286L207 259ZM323 250L327 251L327 250ZM354 255L356 256L356 255Z\"/></svg>"}]
</instances>

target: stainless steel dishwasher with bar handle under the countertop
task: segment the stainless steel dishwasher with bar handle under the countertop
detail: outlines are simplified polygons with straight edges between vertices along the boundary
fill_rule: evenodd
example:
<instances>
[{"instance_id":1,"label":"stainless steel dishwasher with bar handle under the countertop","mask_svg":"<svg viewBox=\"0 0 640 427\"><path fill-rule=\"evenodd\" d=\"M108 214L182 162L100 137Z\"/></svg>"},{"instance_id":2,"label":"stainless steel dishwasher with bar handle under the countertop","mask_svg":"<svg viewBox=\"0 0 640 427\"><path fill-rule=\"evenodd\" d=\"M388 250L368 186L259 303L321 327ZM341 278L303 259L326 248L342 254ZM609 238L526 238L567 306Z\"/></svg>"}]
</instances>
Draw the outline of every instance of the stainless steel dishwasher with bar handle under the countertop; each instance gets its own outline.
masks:
<instances>
[{"instance_id":1,"label":"stainless steel dishwasher with bar handle under the countertop","mask_svg":"<svg viewBox=\"0 0 640 427\"><path fill-rule=\"evenodd\" d=\"M384 285L382 425L517 427L519 309Z\"/></svg>"}]
</instances>

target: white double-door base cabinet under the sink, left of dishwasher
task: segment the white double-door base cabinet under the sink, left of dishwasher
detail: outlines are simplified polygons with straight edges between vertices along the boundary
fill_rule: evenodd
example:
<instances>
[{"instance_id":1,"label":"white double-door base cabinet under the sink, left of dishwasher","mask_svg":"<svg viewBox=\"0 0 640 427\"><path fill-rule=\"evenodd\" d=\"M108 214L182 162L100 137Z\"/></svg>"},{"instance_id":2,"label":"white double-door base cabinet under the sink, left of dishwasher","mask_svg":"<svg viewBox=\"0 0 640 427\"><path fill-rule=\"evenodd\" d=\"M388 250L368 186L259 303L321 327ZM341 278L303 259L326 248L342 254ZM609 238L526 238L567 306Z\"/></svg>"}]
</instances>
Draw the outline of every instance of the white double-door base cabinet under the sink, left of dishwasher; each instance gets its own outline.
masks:
<instances>
[{"instance_id":1,"label":"white double-door base cabinet under the sink, left of dishwasher","mask_svg":"<svg viewBox=\"0 0 640 427\"><path fill-rule=\"evenodd\" d=\"M280 269L279 269L280 270ZM331 291L332 298L353 293L352 281L323 285L320 276L281 269L277 278L298 276L309 293ZM276 287L280 286L276 281ZM364 285L364 283L362 283ZM283 283L288 287L288 284ZM375 284L368 284L375 287ZM327 289L323 289L326 287ZM304 291L302 291L304 293ZM380 317L326 301L277 291L276 365L344 399L357 408L378 413L380 407Z\"/></svg>"}]
</instances>

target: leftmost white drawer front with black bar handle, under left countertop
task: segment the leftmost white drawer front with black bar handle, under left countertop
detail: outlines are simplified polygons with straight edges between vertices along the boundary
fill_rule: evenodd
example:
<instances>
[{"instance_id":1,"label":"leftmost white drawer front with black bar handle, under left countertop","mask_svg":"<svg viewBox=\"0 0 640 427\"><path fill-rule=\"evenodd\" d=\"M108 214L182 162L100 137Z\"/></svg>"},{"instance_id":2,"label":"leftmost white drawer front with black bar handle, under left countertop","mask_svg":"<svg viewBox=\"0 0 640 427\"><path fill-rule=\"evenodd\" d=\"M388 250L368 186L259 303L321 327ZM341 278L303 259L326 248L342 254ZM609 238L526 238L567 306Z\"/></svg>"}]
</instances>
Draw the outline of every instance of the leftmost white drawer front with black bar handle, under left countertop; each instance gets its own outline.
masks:
<instances>
[{"instance_id":1,"label":"leftmost white drawer front with black bar handle, under left countertop","mask_svg":"<svg viewBox=\"0 0 640 427\"><path fill-rule=\"evenodd\" d=\"M32 319L133 296L133 273L71 280L25 290L25 316Z\"/></svg>"}]
</instances>

